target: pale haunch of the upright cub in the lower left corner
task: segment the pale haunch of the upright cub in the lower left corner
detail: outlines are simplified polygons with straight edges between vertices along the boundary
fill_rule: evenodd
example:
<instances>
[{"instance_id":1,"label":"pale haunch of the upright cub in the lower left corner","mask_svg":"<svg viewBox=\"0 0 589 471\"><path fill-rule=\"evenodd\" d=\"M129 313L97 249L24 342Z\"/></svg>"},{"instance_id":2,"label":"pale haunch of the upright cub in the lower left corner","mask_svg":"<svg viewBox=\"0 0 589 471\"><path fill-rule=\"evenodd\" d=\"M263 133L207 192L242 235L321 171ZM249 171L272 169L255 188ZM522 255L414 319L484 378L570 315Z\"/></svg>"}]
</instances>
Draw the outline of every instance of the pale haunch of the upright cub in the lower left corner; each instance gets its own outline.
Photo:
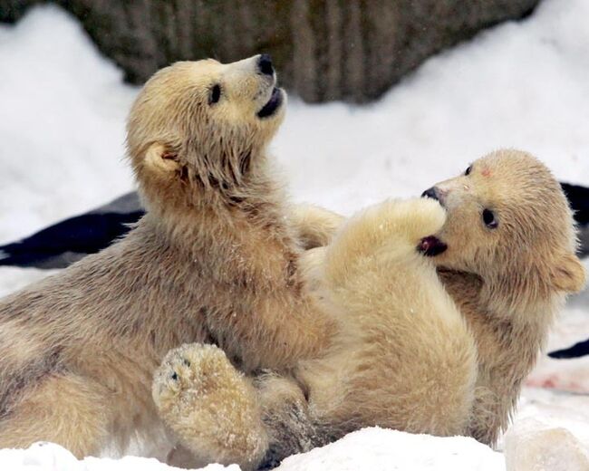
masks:
<instances>
[{"instance_id":1,"label":"pale haunch of the upright cub in the lower left corner","mask_svg":"<svg viewBox=\"0 0 589 471\"><path fill-rule=\"evenodd\" d=\"M0 416L0 448L50 441L76 457L96 455L109 436L110 415L101 385L80 376L52 374L24 385L21 399Z\"/></svg>"}]
</instances>

